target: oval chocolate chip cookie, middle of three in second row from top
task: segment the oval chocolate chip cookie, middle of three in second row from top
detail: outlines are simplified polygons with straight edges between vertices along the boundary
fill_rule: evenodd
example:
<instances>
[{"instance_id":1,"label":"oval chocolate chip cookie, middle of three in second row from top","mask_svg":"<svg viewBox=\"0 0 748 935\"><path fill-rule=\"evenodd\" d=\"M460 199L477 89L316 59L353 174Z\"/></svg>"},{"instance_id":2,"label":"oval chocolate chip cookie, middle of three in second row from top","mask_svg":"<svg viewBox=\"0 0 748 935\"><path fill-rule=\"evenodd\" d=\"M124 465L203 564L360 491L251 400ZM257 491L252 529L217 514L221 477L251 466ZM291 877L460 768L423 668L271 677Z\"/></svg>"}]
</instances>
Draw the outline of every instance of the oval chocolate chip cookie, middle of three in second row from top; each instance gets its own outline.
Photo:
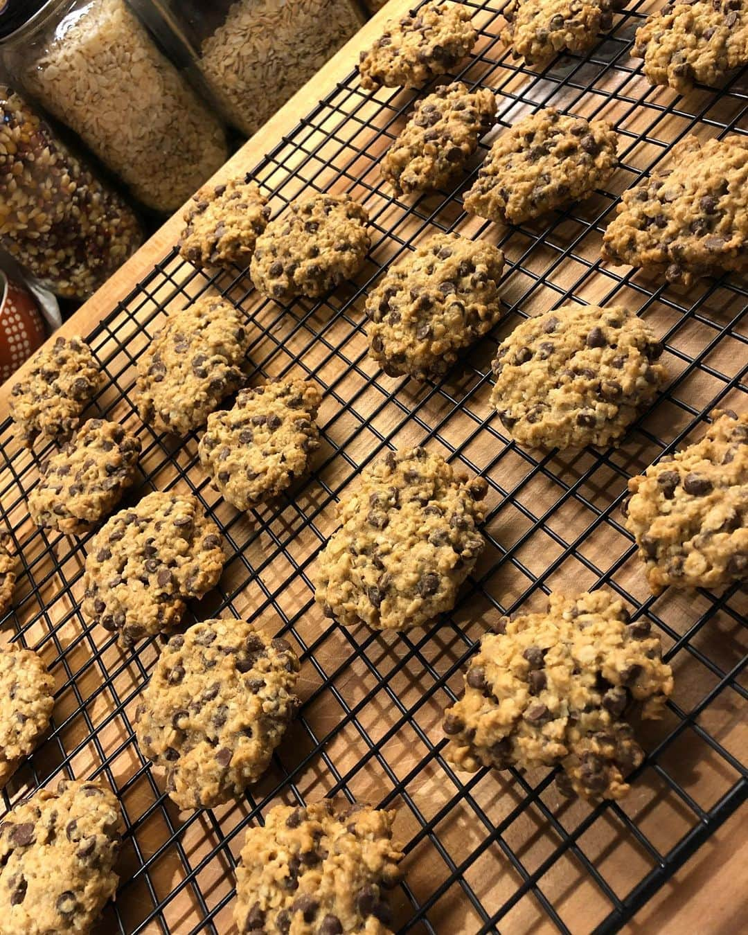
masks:
<instances>
[{"instance_id":1,"label":"oval chocolate chip cookie, middle of three in second row from top","mask_svg":"<svg viewBox=\"0 0 748 935\"><path fill-rule=\"evenodd\" d=\"M618 137L602 120L555 108L530 114L491 147L465 208L488 221L519 224L592 194L618 165Z\"/></svg>"}]
</instances>

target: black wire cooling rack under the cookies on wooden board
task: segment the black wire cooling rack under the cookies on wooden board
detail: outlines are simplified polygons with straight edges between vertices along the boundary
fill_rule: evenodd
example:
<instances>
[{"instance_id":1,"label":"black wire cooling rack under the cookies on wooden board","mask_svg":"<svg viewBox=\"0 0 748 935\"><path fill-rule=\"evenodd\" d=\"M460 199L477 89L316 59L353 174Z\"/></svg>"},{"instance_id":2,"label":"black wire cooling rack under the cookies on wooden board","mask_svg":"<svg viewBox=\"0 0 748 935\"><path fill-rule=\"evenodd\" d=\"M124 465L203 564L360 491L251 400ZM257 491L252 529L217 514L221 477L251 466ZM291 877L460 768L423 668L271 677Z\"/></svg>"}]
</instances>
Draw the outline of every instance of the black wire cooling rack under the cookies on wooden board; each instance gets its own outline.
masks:
<instances>
[{"instance_id":1,"label":"black wire cooling rack under the cookies on wooden board","mask_svg":"<svg viewBox=\"0 0 748 935\"><path fill-rule=\"evenodd\" d=\"M275 211L308 188L348 191L366 205L372 248L354 283L324 301L281 309L258 300L244 271L209 278L170 252L85 336L107 375L93 409L137 429L143 442L141 483L130 500L177 486L198 496L223 526L222 582L191 607L185 624L221 613L259 619L294 640L303 658L300 715L246 798L180 815L164 797L133 735L137 695L158 643L122 654L106 631L82 618L88 538L30 524L25 501L36 459L18 448L8 421L0 429L3 519L21 556L6 625L43 655L57 683L49 737L8 785L5 805L59 773L104 774L118 791L126 825L122 883L104 931L228 930L244 829L279 798L330 794L397 809L408 874L394 899L398 931L614 931L745 798L738 742L746 698L744 595L734 587L721 595L652 597L619 507L627 478L698 437L712 407L744 405L746 289L737 277L665 288L599 260L618 194L667 158L676 140L690 132L702 139L746 132L743 76L720 93L697 88L687 98L651 88L628 54L648 8L642 5L618 17L586 56L559 59L539 75L498 40L501 4L470 6L481 36L458 77L496 91L501 125L547 105L610 119L621 156L610 191L515 228L468 218L465 184L414 202L394 200L378 163L416 94L365 94L352 73L253 174ZM362 308L381 269L435 230L501 246L506 314L444 381L418 385L384 376L367 358ZM324 389L323 448L311 476L251 515L211 491L195 437L153 434L132 403L137 355L165 310L209 289L247 313L253 381L293 372ZM671 380L620 448L540 455L511 442L492 412L490 360L496 342L523 317L572 297L638 309L666 344ZM388 447L419 443L486 478L485 553L439 626L385 636L343 629L316 608L309 584L309 568L336 525L334 501ZM560 798L549 770L456 774L442 755L440 716L461 690L461 670L487 623L541 604L552 588L599 585L624 597L635 617L652 621L676 677L664 720L641 726L649 754L630 796L593 808Z\"/></svg>"}]
</instances>

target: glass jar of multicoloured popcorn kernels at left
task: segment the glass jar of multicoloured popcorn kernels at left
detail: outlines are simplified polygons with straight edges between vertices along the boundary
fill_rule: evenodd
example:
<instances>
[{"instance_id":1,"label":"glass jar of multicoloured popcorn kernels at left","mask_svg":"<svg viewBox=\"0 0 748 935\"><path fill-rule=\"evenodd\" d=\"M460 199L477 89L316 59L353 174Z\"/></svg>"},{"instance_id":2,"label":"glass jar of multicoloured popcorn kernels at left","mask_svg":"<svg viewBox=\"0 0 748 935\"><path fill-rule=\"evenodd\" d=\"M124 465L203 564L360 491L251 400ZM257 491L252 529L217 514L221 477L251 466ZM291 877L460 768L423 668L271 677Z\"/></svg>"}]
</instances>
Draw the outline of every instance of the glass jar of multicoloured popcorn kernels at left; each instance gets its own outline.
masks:
<instances>
[{"instance_id":1,"label":"glass jar of multicoloured popcorn kernels at left","mask_svg":"<svg viewBox=\"0 0 748 935\"><path fill-rule=\"evenodd\" d=\"M141 241L122 196L0 86L0 246L52 292L85 299Z\"/></svg>"}]
</instances>

